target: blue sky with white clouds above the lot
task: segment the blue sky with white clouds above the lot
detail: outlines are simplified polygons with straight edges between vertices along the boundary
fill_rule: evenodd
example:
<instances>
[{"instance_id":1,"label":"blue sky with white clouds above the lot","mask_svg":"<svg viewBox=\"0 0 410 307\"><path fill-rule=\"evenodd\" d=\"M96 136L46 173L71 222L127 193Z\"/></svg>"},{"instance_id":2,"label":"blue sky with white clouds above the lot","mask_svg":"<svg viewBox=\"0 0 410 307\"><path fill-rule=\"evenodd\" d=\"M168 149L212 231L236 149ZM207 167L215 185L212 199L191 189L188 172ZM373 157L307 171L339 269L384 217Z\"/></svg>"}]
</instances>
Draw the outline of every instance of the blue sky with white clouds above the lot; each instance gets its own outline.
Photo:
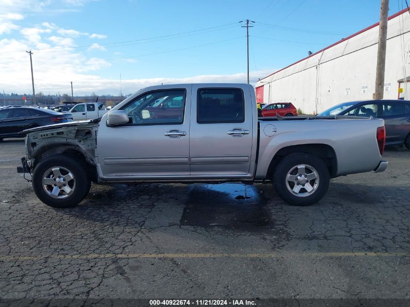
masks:
<instances>
[{"instance_id":1,"label":"blue sky with white clouds above the lot","mask_svg":"<svg viewBox=\"0 0 410 307\"><path fill-rule=\"evenodd\" d=\"M255 82L374 24L380 1L0 0L0 7L0 90L30 93L31 48L36 92L67 93L73 81L78 95L116 95L120 74L124 93L161 82L246 82L239 23L246 18L256 21ZM389 15L399 9L391 1Z\"/></svg>"}]
</instances>

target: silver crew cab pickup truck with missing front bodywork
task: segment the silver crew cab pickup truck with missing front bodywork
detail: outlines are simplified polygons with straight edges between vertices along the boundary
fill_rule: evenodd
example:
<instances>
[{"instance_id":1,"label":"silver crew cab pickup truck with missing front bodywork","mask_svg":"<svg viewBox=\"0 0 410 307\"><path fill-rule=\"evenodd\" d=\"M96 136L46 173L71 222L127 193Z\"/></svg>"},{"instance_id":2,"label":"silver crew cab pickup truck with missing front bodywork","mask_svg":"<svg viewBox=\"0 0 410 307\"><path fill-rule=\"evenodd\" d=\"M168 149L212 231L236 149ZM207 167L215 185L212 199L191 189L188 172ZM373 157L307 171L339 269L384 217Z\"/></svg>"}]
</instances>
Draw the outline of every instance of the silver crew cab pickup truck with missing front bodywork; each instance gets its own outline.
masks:
<instances>
[{"instance_id":1,"label":"silver crew cab pickup truck with missing front bodywork","mask_svg":"<svg viewBox=\"0 0 410 307\"><path fill-rule=\"evenodd\" d=\"M57 208L80 203L91 181L264 179L305 206L325 195L330 178L387 167L382 119L257 114L248 84L152 86L101 118L25 130L23 167L38 198Z\"/></svg>"}]
</instances>

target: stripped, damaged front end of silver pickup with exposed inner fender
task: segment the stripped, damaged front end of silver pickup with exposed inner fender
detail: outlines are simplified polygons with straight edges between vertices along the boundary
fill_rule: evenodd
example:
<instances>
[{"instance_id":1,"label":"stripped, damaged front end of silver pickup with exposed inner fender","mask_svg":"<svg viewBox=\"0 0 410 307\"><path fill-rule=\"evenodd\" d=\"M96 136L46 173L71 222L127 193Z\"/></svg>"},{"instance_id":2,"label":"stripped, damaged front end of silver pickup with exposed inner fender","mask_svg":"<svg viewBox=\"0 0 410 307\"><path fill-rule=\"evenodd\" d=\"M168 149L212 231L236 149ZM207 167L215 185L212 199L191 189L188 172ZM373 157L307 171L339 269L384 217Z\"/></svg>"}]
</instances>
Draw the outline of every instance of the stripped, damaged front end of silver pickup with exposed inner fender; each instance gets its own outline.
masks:
<instances>
[{"instance_id":1,"label":"stripped, damaged front end of silver pickup with exposed inner fender","mask_svg":"<svg viewBox=\"0 0 410 307\"><path fill-rule=\"evenodd\" d=\"M43 158L68 154L96 165L98 123L90 121L70 122L24 130L26 157L17 172L31 173Z\"/></svg>"}]
</instances>

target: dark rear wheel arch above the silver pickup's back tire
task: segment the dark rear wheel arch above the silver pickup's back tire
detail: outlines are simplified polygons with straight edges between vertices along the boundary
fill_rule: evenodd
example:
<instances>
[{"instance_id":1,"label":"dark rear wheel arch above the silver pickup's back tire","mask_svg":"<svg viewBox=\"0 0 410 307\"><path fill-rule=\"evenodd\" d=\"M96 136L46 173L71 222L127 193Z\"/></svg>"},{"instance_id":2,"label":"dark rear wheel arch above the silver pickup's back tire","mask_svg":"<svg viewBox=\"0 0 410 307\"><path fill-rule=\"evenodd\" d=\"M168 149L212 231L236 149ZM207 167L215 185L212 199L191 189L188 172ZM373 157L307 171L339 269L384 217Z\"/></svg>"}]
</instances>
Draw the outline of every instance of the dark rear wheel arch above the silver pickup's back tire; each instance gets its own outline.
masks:
<instances>
[{"instance_id":1,"label":"dark rear wheel arch above the silver pickup's back tire","mask_svg":"<svg viewBox=\"0 0 410 307\"><path fill-rule=\"evenodd\" d=\"M328 167L330 178L336 177L337 156L332 146L327 144L301 144L280 148L269 163L269 167L266 172L266 178L272 178L277 165L283 158L296 152L308 153L321 158Z\"/></svg>"}]
</instances>

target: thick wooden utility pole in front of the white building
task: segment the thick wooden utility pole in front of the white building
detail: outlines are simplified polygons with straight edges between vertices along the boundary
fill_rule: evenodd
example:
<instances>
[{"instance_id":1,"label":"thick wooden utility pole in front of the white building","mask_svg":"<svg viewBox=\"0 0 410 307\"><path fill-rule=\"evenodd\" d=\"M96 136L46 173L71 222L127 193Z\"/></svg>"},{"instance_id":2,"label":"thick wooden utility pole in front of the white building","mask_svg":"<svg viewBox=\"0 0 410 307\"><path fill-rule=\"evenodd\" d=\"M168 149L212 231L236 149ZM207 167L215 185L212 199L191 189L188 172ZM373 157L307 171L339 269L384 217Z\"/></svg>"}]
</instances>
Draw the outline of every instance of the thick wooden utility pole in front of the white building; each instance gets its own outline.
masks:
<instances>
[{"instance_id":1,"label":"thick wooden utility pole in front of the white building","mask_svg":"<svg viewBox=\"0 0 410 307\"><path fill-rule=\"evenodd\" d=\"M388 14L389 14L389 0L381 0L380 26L378 30L378 46L377 46L375 99L383 99L383 93L384 93L384 68L386 66Z\"/></svg>"}]
</instances>

